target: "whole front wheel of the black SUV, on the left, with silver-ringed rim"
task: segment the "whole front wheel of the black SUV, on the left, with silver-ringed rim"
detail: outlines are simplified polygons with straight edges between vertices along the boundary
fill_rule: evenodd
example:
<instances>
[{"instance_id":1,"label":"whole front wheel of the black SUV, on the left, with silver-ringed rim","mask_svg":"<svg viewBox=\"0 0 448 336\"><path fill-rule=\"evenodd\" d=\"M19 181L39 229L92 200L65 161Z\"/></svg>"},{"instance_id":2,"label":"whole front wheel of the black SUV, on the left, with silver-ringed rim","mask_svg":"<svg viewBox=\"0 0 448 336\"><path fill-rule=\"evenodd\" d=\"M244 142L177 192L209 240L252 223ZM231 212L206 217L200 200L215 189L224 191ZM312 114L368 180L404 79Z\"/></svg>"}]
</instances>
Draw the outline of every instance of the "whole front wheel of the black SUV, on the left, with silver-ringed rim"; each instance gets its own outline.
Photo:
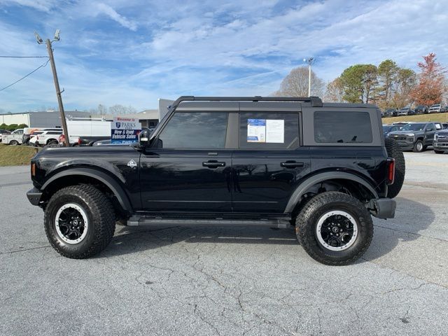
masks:
<instances>
[{"instance_id":1,"label":"whole front wheel of the black SUV, on the left, with silver-ringed rim","mask_svg":"<svg viewBox=\"0 0 448 336\"><path fill-rule=\"evenodd\" d=\"M115 232L115 212L93 186L69 186L52 195L45 208L45 234L57 253L89 258L106 248Z\"/></svg>"}]
</instances>

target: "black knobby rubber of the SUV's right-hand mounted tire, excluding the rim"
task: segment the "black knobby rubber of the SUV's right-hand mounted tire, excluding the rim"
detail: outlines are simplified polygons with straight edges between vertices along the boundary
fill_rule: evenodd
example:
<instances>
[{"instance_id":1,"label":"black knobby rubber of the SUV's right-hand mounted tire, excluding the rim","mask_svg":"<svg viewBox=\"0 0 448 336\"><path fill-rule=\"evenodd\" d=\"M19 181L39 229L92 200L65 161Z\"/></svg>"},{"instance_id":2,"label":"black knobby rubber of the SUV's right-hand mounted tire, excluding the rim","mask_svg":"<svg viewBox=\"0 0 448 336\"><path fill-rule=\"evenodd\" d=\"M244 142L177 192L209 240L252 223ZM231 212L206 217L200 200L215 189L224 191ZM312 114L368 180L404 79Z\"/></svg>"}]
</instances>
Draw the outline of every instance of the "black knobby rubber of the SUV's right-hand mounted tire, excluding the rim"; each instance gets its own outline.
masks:
<instances>
[{"instance_id":1,"label":"black knobby rubber of the SUV's right-hand mounted tire, excluding the rim","mask_svg":"<svg viewBox=\"0 0 448 336\"><path fill-rule=\"evenodd\" d=\"M345 211L358 226L358 236L344 251L325 248L316 237L319 218L328 211ZM300 211L295 222L295 232L300 245L314 260L325 265L349 265L367 251L373 237L373 223L369 211L351 195L329 191L313 197Z\"/></svg>"}]
</instances>

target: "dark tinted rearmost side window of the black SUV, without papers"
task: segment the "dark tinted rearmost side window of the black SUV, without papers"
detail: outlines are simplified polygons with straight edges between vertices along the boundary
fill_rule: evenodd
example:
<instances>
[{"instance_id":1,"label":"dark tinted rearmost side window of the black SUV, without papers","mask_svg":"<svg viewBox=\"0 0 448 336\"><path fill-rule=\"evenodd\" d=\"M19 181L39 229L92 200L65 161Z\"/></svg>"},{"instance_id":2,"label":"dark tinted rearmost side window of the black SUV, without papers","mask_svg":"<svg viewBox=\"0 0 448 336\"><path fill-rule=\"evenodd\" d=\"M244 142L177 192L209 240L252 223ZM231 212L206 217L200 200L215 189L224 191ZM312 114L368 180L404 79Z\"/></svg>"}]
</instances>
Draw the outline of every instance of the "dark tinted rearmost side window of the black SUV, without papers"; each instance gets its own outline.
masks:
<instances>
[{"instance_id":1,"label":"dark tinted rearmost side window of the black SUV, without papers","mask_svg":"<svg viewBox=\"0 0 448 336\"><path fill-rule=\"evenodd\" d=\"M323 144L370 144L372 123L368 112L314 112L314 141Z\"/></svg>"}]
</instances>

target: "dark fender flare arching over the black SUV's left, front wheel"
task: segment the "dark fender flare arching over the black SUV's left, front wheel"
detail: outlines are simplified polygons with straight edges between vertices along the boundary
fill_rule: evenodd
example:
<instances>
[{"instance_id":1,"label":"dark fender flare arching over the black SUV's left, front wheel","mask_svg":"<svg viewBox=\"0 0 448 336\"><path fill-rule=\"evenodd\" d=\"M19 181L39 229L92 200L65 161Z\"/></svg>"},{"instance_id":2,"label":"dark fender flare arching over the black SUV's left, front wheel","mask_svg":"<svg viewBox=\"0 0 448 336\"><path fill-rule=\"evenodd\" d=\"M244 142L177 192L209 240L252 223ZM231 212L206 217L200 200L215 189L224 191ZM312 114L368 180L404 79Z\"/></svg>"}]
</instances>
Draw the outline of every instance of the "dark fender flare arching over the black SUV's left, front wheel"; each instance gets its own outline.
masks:
<instances>
[{"instance_id":1,"label":"dark fender flare arching over the black SUV's left, front wheel","mask_svg":"<svg viewBox=\"0 0 448 336\"><path fill-rule=\"evenodd\" d=\"M45 181L41 191L44 195L52 195L55 190L82 183L99 186L103 192L113 195L123 213L132 214L131 202L124 188L111 176L97 169L72 168L58 172Z\"/></svg>"}]
</instances>

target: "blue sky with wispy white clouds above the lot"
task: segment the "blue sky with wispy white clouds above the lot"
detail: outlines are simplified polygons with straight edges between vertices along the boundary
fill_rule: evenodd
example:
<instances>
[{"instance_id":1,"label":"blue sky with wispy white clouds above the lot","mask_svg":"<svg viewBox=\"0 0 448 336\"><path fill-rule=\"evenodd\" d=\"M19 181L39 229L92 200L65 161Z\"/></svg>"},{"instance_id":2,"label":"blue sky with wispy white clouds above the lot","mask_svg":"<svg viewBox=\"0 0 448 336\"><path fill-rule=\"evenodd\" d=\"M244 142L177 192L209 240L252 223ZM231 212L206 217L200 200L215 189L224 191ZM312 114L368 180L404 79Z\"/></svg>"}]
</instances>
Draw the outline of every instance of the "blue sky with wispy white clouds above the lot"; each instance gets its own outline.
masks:
<instances>
[{"instance_id":1,"label":"blue sky with wispy white clouds above the lot","mask_svg":"<svg viewBox=\"0 0 448 336\"><path fill-rule=\"evenodd\" d=\"M429 52L448 66L448 0L0 0L0 55L48 55L34 31L56 29L66 110L268 95L306 57L325 81L384 59L417 70ZM0 58L0 88L45 62ZM57 106L50 64L0 91L0 111L43 106Z\"/></svg>"}]
</instances>

